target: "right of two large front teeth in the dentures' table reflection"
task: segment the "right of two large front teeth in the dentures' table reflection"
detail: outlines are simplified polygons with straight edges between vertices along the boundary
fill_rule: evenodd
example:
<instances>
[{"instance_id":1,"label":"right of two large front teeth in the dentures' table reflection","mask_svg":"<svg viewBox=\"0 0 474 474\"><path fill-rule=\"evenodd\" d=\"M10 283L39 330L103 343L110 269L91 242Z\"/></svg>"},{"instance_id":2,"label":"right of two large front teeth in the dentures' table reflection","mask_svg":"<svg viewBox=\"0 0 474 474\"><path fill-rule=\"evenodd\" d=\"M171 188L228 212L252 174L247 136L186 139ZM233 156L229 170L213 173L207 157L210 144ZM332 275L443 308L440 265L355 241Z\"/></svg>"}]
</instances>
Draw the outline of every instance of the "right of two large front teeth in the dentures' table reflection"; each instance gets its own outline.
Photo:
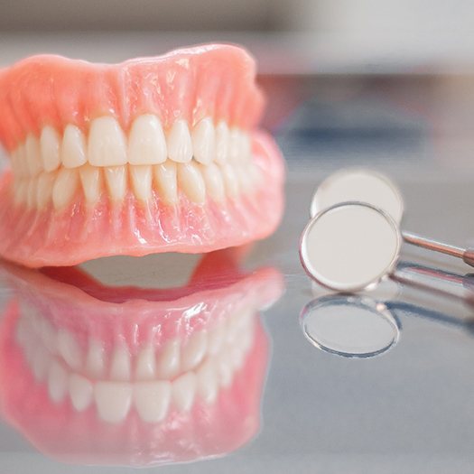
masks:
<instances>
[{"instance_id":1,"label":"right of two large front teeth in the dentures' table reflection","mask_svg":"<svg viewBox=\"0 0 474 474\"><path fill-rule=\"evenodd\" d=\"M134 387L135 408L146 423L158 423L168 414L172 385L170 382L137 382Z\"/></svg>"}]
</instances>

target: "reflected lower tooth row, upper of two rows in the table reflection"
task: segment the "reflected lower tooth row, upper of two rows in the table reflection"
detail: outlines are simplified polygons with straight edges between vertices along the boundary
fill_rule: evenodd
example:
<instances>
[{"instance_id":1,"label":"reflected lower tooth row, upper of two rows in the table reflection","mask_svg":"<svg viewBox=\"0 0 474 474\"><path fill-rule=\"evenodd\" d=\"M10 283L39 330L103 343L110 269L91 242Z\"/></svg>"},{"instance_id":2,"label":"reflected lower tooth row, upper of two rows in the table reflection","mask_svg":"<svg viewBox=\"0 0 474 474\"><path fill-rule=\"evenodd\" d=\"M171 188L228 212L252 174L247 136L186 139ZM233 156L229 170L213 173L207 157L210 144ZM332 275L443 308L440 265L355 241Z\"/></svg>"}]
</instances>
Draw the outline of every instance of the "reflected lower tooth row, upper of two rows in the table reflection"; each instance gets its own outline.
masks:
<instances>
[{"instance_id":1,"label":"reflected lower tooth row, upper of two rows in the table reflection","mask_svg":"<svg viewBox=\"0 0 474 474\"><path fill-rule=\"evenodd\" d=\"M31 311L25 314L31 314ZM131 350L125 343L107 349L98 339L89 339L88 347L79 344L72 331L55 330L49 321L40 315L23 318L34 339L42 342L70 370L80 372L93 379L116 382L170 380L190 370L196 370L209 357L233 347L248 349L253 339L253 314L237 315L222 321L209 330L195 331L183 344L179 339L170 339L162 346L144 343ZM23 321L23 325L25 322Z\"/></svg>"}]
</instances>

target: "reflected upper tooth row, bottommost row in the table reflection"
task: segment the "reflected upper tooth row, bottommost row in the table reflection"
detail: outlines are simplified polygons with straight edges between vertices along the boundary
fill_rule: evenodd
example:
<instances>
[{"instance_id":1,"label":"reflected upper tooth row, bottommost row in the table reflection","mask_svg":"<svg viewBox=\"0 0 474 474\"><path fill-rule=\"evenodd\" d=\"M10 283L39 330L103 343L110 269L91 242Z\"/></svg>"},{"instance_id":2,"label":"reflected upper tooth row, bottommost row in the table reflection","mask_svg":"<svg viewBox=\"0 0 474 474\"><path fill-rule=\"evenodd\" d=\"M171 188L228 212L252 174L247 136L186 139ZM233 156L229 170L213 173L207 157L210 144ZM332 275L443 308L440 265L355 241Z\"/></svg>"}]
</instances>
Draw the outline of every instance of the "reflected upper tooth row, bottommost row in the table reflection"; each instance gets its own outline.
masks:
<instances>
[{"instance_id":1,"label":"reflected upper tooth row, bottommost row in the table reflection","mask_svg":"<svg viewBox=\"0 0 474 474\"><path fill-rule=\"evenodd\" d=\"M214 348L218 349L217 352L209 355L193 371L184 372L172 380L156 380L150 376L148 380L134 383L126 380L93 381L89 376L71 371L76 364L70 365L69 362L64 363L52 356L42 344L41 338L34 331L32 333L24 318L17 325L16 339L23 347L35 379L47 384L53 403L60 404L69 399L78 412L95 405L99 417L107 423L122 422L130 410L135 408L144 422L159 423L172 410L190 411L197 399L206 404L214 403L219 387L231 384L234 373L242 366L253 340L253 326L246 330L245 338L239 336L238 333L244 327L245 324L240 324L231 339L224 334L223 339L232 340L233 345L229 347L221 344L219 348ZM64 340L61 343L63 348L70 344L71 339L68 342ZM189 343L196 344L191 341ZM72 357L74 350L69 349L68 358ZM193 363L191 360L188 362L191 365ZM123 363L122 361L121 364ZM141 364L145 373L153 372L143 360Z\"/></svg>"}]
</instances>

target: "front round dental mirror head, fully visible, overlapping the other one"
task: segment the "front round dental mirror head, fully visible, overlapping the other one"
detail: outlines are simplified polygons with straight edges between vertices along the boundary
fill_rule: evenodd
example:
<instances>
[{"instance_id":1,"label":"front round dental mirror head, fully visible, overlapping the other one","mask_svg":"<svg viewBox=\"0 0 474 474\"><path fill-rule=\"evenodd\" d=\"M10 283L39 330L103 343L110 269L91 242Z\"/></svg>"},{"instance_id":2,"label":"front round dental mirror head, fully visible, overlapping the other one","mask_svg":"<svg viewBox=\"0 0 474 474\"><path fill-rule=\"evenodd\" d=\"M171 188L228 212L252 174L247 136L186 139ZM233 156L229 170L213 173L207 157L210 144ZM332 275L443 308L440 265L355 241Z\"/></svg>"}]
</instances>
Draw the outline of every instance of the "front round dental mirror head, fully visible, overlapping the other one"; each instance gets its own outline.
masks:
<instances>
[{"instance_id":1,"label":"front round dental mirror head, fully visible, overlapping the other one","mask_svg":"<svg viewBox=\"0 0 474 474\"><path fill-rule=\"evenodd\" d=\"M300 257L307 274L337 292L358 292L390 274L400 253L394 219L367 203L344 202L311 218Z\"/></svg>"}]
</instances>

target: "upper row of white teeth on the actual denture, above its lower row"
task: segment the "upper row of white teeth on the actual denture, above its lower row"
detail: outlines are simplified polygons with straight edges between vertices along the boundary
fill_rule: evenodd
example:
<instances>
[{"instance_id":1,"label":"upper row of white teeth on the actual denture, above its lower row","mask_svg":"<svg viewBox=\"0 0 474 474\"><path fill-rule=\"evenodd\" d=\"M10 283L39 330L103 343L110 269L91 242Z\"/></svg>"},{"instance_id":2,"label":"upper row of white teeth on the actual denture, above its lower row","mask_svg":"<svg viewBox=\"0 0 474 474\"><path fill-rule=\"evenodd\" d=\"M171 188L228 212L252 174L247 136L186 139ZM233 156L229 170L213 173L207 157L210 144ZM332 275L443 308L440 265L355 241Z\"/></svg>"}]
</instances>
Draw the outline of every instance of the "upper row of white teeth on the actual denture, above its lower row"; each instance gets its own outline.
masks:
<instances>
[{"instance_id":1,"label":"upper row of white teeth on the actual denture, above its lower row","mask_svg":"<svg viewBox=\"0 0 474 474\"><path fill-rule=\"evenodd\" d=\"M165 163L209 164L247 162L251 154L250 136L226 122L214 125L203 118L192 130L186 120L177 120L165 134L157 116L138 116L128 137L112 116L92 120L86 137L76 125L67 125L62 136L50 125L40 137L29 134L12 153L12 168L18 176L53 172L60 165L74 169L93 166L123 166L126 163L153 165Z\"/></svg>"}]
</instances>

